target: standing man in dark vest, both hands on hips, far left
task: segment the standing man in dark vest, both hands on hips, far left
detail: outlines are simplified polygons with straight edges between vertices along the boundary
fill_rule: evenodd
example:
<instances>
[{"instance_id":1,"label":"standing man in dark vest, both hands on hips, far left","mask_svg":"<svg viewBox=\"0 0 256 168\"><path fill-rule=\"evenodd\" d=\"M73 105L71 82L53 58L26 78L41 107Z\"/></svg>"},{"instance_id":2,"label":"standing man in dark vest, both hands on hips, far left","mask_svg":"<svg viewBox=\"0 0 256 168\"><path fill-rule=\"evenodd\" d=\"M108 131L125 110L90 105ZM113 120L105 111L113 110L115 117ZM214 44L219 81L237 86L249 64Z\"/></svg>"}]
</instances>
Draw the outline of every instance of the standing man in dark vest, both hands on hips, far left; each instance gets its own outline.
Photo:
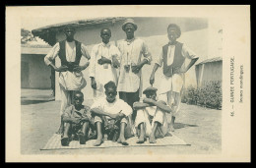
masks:
<instances>
[{"instance_id":1,"label":"standing man in dark vest, both hands on hips, far left","mask_svg":"<svg viewBox=\"0 0 256 168\"><path fill-rule=\"evenodd\" d=\"M91 56L86 46L74 39L75 29L72 27L64 28L66 39L57 42L51 51L44 57L44 62L54 71L59 72L59 85L61 92L61 107L60 114L62 115L66 107L72 103L72 98L75 90L81 90L86 86L82 71L89 66L89 62L80 66L82 55L88 60ZM56 67L52 61L59 56L61 66ZM61 134L64 129L64 123L61 118L60 128L57 134Z\"/></svg>"}]
</instances>

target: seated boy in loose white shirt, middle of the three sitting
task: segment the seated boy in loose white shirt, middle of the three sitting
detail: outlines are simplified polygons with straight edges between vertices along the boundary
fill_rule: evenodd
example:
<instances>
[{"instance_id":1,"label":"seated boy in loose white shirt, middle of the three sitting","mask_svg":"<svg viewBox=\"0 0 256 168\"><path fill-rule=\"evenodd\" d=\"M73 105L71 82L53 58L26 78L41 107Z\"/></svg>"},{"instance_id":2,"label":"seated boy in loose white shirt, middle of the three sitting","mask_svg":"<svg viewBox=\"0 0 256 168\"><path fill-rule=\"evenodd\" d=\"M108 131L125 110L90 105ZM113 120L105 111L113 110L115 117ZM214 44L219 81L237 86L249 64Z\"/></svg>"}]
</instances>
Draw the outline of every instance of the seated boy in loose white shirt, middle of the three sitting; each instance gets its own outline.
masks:
<instances>
[{"instance_id":1,"label":"seated boy in loose white shirt, middle of the three sitting","mask_svg":"<svg viewBox=\"0 0 256 168\"><path fill-rule=\"evenodd\" d=\"M92 115L96 123L96 143L98 146L103 142L103 134L111 130L118 131L118 143L128 145L124 138L124 129L127 125L127 116L132 114L132 108L122 99L116 98L116 85L114 82L104 84L105 96L96 100L91 107ZM102 129L102 124L104 128ZM110 135L108 135L110 136Z\"/></svg>"}]
</instances>

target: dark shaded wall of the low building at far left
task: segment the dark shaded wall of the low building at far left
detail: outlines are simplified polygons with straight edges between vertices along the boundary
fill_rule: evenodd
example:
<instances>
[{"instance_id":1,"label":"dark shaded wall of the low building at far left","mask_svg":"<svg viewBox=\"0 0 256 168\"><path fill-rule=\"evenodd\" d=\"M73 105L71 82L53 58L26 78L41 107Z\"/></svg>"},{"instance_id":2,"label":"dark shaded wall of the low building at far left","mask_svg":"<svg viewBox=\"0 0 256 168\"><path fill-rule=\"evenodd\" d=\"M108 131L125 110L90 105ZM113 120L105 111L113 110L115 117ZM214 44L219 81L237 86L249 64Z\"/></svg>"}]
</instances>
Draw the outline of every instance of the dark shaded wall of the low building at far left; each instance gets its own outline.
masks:
<instances>
[{"instance_id":1,"label":"dark shaded wall of the low building at far left","mask_svg":"<svg viewBox=\"0 0 256 168\"><path fill-rule=\"evenodd\" d=\"M50 83L50 68L44 64L43 58L45 55L22 54L22 62L29 65L29 84L27 88L51 88ZM23 70L22 71L26 71ZM22 77L22 82L23 79Z\"/></svg>"}]
</instances>

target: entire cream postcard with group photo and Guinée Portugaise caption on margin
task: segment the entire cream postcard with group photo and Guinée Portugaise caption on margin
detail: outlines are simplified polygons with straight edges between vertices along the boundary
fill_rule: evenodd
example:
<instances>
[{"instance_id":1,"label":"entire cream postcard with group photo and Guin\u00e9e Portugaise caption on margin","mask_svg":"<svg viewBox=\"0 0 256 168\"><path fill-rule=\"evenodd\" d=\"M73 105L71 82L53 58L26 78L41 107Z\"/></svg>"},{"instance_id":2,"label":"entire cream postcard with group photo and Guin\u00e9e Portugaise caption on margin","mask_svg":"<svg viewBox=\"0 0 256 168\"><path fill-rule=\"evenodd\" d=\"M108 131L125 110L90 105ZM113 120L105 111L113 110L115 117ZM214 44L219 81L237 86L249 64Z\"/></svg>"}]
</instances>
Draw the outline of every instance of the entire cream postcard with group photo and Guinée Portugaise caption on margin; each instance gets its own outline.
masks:
<instances>
[{"instance_id":1,"label":"entire cream postcard with group photo and Guin\u00e9e Portugaise caption on margin","mask_svg":"<svg viewBox=\"0 0 256 168\"><path fill-rule=\"evenodd\" d=\"M6 7L6 162L250 162L250 6Z\"/></svg>"}]
</instances>

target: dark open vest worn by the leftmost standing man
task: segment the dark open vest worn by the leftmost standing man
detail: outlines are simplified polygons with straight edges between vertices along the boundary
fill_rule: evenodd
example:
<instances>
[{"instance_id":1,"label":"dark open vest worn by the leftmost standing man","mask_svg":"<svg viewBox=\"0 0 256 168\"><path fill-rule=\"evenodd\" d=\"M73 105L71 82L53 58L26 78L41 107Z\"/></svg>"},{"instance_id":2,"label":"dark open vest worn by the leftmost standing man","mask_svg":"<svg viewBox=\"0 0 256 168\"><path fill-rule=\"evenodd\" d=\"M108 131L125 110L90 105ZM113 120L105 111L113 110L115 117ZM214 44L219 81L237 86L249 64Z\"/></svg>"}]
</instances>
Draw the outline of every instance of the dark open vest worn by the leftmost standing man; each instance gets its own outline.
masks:
<instances>
[{"instance_id":1,"label":"dark open vest worn by the leftmost standing man","mask_svg":"<svg viewBox=\"0 0 256 168\"><path fill-rule=\"evenodd\" d=\"M81 42L75 40L75 44L76 44L76 59L75 62L68 62L66 59L66 40L60 41L59 42L59 58L60 58L60 62L61 62L61 66L65 65L69 68L68 71L73 72L73 68L75 65L79 66L80 60L81 60L81 56L82 56L82 52L81 52Z\"/></svg>"}]
</instances>

